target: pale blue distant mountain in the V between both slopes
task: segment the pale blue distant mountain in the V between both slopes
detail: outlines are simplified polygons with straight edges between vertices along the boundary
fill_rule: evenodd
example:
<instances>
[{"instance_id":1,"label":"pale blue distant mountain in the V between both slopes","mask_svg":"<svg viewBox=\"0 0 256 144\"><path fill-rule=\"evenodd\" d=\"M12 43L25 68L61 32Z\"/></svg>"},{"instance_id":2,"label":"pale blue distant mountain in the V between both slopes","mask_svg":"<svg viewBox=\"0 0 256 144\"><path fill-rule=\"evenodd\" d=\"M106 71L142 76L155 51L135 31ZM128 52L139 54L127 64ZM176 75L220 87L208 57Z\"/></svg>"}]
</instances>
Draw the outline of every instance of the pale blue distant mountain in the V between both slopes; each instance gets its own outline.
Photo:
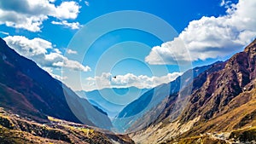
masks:
<instances>
[{"instance_id":1,"label":"pale blue distant mountain in the V between both slopes","mask_svg":"<svg viewBox=\"0 0 256 144\"><path fill-rule=\"evenodd\" d=\"M109 117L115 117L131 101L136 100L148 89L112 88L98 89L93 91L77 91L76 93L90 102L91 105L99 107L103 112L107 112Z\"/></svg>"}]
</instances>

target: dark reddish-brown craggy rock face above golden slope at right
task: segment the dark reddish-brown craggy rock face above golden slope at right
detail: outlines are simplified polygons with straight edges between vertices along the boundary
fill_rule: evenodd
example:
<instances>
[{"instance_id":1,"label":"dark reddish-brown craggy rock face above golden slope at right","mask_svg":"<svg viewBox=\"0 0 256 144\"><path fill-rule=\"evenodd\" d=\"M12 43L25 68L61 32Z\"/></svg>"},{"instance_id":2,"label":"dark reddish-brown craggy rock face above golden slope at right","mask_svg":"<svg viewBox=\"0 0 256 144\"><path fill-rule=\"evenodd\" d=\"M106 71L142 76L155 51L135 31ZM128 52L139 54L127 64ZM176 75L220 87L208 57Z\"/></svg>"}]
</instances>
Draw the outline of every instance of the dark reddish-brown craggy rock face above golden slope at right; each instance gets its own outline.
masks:
<instances>
[{"instance_id":1,"label":"dark reddish-brown craggy rock face above golden slope at right","mask_svg":"<svg viewBox=\"0 0 256 144\"><path fill-rule=\"evenodd\" d=\"M183 112L183 122L201 115L201 120L223 114L227 106L237 95L247 89L255 79L256 41L226 61L224 68L207 76L201 89L189 97L189 106Z\"/></svg>"}]
</instances>

